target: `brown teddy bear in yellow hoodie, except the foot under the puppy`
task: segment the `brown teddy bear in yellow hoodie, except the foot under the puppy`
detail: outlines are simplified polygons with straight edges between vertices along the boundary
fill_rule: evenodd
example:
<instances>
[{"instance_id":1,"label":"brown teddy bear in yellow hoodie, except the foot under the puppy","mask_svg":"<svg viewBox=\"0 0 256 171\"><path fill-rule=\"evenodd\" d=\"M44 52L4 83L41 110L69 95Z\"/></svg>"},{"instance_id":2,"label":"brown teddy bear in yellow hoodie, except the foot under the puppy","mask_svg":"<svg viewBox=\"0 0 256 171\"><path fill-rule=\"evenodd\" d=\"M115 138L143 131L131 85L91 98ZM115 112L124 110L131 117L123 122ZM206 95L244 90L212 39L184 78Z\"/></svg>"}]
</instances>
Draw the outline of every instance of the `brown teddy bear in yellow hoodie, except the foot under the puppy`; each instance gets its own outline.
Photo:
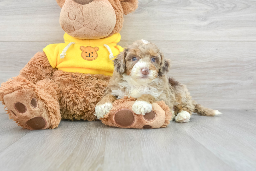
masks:
<instances>
[{"instance_id":1,"label":"brown teddy bear in yellow hoodie, except the foot under the puppy","mask_svg":"<svg viewBox=\"0 0 256 171\"><path fill-rule=\"evenodd\" d=\"M0 87L7 114L27 129L53 129L60 120L96 120L95 105L123 50L123 15L137 0L56 0L65 43L37 52L20 75Z\"/></svg>"}]
</instances>

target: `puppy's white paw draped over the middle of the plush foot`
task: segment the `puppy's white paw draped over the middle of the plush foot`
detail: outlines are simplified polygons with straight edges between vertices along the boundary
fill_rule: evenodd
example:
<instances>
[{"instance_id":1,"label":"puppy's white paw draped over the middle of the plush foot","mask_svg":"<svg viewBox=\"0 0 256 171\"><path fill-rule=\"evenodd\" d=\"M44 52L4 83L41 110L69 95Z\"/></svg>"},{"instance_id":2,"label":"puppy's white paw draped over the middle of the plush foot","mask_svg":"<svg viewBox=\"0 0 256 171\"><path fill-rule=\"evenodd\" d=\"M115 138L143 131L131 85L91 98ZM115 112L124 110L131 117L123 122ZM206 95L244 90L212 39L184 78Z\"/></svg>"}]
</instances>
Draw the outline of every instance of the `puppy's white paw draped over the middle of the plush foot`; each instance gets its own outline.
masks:
<instances>
[{"instance_id":1,"label":"puppy's white paw draped over the middle of the plush foot","mask_svg":"<svg viewBox=\"0 0 256 171\"><path fill-rule=\"evenodd\" d=\"M149 113L152 111L152 104L144 101L135 101L132 105L132 110L137 115L145 115L146 113Z\"/></svg>"}]
</instances>

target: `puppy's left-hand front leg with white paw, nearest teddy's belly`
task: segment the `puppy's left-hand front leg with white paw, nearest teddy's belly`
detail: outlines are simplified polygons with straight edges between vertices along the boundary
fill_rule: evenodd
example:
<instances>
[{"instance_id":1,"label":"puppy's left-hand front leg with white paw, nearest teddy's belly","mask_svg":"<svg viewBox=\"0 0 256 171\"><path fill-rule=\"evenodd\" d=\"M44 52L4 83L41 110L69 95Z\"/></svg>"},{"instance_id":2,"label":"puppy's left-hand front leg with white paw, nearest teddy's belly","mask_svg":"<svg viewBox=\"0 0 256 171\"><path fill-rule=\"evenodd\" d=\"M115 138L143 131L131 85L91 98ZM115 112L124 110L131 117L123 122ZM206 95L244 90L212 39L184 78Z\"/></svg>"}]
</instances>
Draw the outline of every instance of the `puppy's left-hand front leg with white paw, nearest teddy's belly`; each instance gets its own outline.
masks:
<instances>
[{"instance_id":1,"label":"puppy's left-hand front leg with white paw, nearest teddy's belly","mask_svg":"<svg viewBox=\"0 0 256 171\"><path fill-rule=\"evenodd\" d=\"M98 119L101 117L104 117L110 109L113 107L112 103L116 100L117 98L111 94L107 94L102 97L101 101L99 101L95 107L95 116L97 116Z\"/></svg>"}]
</instances>

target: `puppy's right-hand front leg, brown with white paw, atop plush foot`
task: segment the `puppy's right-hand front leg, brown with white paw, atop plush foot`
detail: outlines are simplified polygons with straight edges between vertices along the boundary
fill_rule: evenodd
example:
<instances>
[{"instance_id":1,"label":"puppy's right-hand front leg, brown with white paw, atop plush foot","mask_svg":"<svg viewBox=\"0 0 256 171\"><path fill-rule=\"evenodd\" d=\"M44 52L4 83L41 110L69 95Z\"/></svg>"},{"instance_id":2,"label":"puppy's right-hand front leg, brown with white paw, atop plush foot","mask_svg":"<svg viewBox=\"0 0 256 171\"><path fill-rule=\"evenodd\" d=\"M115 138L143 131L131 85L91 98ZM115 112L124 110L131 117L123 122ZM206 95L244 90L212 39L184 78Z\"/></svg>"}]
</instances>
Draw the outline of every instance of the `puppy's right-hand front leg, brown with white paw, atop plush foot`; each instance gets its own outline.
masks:
<instances>
[{"instance_id":1,"label":"puppy's right-hand front leg, brown with white paw, atop plush foot","mask_svg":"<svg viewBox=\"0 0 256 171\"><path fill-rule=\"evenodd\" d=\"M152 103L155 102L155 97L144 94L139 97L132 105L132 110L137 115L145 115L152 111Z\"/></svg>"}]
</instances>

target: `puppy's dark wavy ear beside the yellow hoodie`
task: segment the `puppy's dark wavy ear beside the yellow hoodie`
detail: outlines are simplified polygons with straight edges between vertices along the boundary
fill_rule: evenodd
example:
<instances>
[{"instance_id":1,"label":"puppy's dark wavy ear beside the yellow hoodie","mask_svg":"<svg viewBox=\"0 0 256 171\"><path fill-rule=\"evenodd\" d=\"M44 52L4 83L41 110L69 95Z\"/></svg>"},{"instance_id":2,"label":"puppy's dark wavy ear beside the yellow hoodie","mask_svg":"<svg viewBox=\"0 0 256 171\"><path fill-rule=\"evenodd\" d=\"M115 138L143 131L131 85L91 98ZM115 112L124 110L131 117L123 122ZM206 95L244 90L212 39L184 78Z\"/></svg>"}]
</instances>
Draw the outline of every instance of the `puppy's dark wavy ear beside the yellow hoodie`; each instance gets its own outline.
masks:
<instances>
[{"instance_id":1,"label":"puppy's dark wavy ear beside the yellow hoodie","mask_svg":"<svg viewBox=\"0 0 256 171\"><path fill-rule=\"evenodd\" d=\"M123 74L125 72L125 69L126 69L125 57L126 57L127 51L128 49L124 49L124 51L120 52L113 61L115 70L119 74Z\"/></svg>"}]
</instances>

